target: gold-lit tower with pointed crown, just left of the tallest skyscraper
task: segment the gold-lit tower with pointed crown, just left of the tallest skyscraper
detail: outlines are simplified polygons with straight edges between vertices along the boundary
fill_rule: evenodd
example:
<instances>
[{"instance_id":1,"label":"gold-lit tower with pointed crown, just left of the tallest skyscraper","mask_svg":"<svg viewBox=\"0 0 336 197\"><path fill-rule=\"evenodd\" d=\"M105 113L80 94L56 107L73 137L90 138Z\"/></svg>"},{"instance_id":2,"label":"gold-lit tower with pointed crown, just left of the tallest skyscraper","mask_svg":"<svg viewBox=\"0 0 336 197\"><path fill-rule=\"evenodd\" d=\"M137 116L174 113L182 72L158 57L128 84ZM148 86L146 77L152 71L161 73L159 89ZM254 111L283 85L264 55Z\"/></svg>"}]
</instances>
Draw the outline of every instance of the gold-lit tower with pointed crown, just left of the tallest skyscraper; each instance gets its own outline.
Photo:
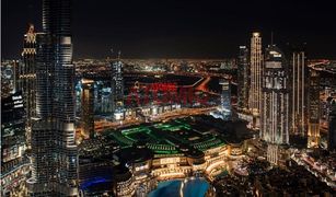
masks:
<instances>
[{"instance_id":1,"label":"gold-lit tower with pointed crown, just left of the tallest skyscraper","mask_svg":"<svg viewBox=\"0 0 336 197\"><path fill-rule=\"evenodd\" d=\"M30 142L30 132L33 117L36 116L36 34L34 25L30 25L24 35L22 62L19 63L19 91L22 91L26 111L26 130Z\"/></svg>"}]
</instances>

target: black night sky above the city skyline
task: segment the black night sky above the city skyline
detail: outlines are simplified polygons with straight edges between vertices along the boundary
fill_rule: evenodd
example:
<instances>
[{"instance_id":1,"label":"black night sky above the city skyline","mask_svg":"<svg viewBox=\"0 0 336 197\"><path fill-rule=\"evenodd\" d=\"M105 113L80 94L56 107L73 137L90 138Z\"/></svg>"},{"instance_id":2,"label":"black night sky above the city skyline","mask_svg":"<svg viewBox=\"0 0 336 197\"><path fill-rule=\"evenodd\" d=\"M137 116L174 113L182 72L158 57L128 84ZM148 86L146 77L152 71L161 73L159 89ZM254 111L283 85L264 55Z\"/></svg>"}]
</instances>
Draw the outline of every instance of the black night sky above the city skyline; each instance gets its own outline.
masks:
<instances>
[{"instance_id":1,"label":"black night sky above the city skyline","mask_svg":"<svg viewBox=\"0 0 336 197\"><path fill-rule=\"evenodd\" d=\"M42 0L2 0L2 58L19 58L27 24L42 31ZM230 58L259 30L263 44L308 43L309 58L336 59L331 0L74 0L74 58Z\"/></svg>"}]
</instances>

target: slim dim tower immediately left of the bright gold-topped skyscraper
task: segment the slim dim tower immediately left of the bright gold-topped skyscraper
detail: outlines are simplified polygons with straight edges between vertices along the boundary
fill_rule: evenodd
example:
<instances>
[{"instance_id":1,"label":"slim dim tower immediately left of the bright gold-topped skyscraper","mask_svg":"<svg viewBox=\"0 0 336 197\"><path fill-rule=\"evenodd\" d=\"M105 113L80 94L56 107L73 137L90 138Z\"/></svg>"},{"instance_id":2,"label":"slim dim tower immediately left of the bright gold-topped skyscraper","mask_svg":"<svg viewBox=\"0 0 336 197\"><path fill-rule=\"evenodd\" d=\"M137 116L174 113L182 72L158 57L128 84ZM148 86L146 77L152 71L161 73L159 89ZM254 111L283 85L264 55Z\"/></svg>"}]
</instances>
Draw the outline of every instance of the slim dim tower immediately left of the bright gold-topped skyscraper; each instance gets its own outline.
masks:
<instances>
[{"instance_id":1,"label":"slim dim tower immediately left of the bright gold-topped skyscraper","mask_svg":"<svg viewBox=\"0 0 336 197\"><path fill-rule=\"evenodd\" d=\"M237 106L241 109L248 108L250 90L250 63L248 49L246 46L240 46L237 58Z\"/></svg>"}]
</instances>

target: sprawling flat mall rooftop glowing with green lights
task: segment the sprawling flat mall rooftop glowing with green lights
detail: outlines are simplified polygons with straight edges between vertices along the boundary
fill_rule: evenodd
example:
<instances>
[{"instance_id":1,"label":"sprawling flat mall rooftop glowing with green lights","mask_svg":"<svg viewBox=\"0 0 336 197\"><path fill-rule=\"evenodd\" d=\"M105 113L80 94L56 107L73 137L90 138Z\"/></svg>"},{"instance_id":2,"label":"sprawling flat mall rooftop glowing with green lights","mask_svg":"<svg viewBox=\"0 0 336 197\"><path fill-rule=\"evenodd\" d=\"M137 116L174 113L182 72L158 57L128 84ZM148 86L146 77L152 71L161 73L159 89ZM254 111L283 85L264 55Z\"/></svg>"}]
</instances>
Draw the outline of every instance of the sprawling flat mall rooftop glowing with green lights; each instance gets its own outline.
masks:
<instances>
[{"instance_id":1,"label":"sprawling flat mall rooftop glowing with green lights","mask_svg":"<svg viewBox=\"0 0 336 197\"><path fill-rule=\"evenodd\" d=\"M121 149L141 142L155 155L184 153L181 147L185 144L199 151L225 144L224 138L218 135L216 128L190 117L106 130L103 135L116 141Z\"/></svg>"}]
</instances>

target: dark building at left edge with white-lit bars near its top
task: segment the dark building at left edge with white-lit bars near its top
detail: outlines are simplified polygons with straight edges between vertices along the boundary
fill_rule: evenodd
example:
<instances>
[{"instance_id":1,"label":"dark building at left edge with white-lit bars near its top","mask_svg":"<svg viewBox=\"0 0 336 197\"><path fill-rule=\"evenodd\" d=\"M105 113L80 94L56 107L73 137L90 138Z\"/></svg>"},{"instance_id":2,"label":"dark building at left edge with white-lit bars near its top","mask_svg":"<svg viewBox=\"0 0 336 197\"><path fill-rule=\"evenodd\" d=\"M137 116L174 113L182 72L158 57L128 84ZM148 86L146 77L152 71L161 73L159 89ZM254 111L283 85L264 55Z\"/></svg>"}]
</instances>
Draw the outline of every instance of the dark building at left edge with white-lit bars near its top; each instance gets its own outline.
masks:
<instances>
[{"instance_id":1,"label":"dark building at left edge with white-lit bars near its top","mask_svg":"<svg viewBox=\"0 0 336 197\"><path fill-rule=\"evenodd\" d=\"M25 109L21 92L1 97L1 193L14 196L30 172L26 155ZM16 193L18 194L18 193Z\"/></svg>"}]
</instances>

